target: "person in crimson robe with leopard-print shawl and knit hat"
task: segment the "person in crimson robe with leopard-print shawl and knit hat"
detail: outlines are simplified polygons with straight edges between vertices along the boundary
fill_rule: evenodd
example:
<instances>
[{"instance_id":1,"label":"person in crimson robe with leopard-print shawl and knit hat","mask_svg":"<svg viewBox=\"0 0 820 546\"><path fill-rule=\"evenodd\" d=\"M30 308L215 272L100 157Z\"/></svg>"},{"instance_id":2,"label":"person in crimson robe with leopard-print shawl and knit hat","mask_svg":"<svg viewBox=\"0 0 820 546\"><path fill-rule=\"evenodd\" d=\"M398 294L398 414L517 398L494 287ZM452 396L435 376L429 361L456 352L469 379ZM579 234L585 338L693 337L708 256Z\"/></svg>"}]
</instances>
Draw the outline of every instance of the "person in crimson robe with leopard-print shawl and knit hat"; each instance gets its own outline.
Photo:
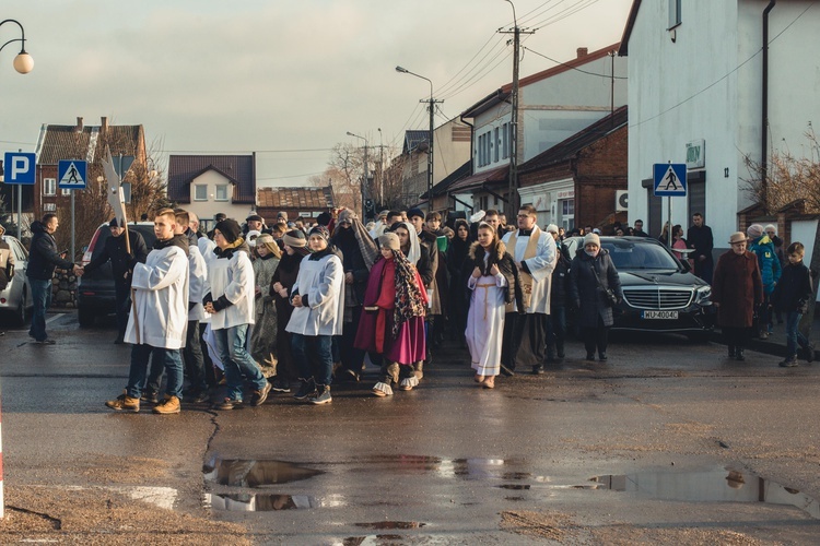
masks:
<instances>
[{"instance_id":1,"label":"person in crimson robe with leopard-print shawl and knit hat","mask_svg":"<svg viewBox=\"0 0 820 546\"><path fill-rule=\"evenodd\" d=\"M415 268L400 250L396 234L378 238L382 257L371 270L364 313L355 347L383 357L376 396L393 394L393 383L409 391L419 384L413 364L424 359L424 313L427 293Z\"/></svg>"}]
</instances>

